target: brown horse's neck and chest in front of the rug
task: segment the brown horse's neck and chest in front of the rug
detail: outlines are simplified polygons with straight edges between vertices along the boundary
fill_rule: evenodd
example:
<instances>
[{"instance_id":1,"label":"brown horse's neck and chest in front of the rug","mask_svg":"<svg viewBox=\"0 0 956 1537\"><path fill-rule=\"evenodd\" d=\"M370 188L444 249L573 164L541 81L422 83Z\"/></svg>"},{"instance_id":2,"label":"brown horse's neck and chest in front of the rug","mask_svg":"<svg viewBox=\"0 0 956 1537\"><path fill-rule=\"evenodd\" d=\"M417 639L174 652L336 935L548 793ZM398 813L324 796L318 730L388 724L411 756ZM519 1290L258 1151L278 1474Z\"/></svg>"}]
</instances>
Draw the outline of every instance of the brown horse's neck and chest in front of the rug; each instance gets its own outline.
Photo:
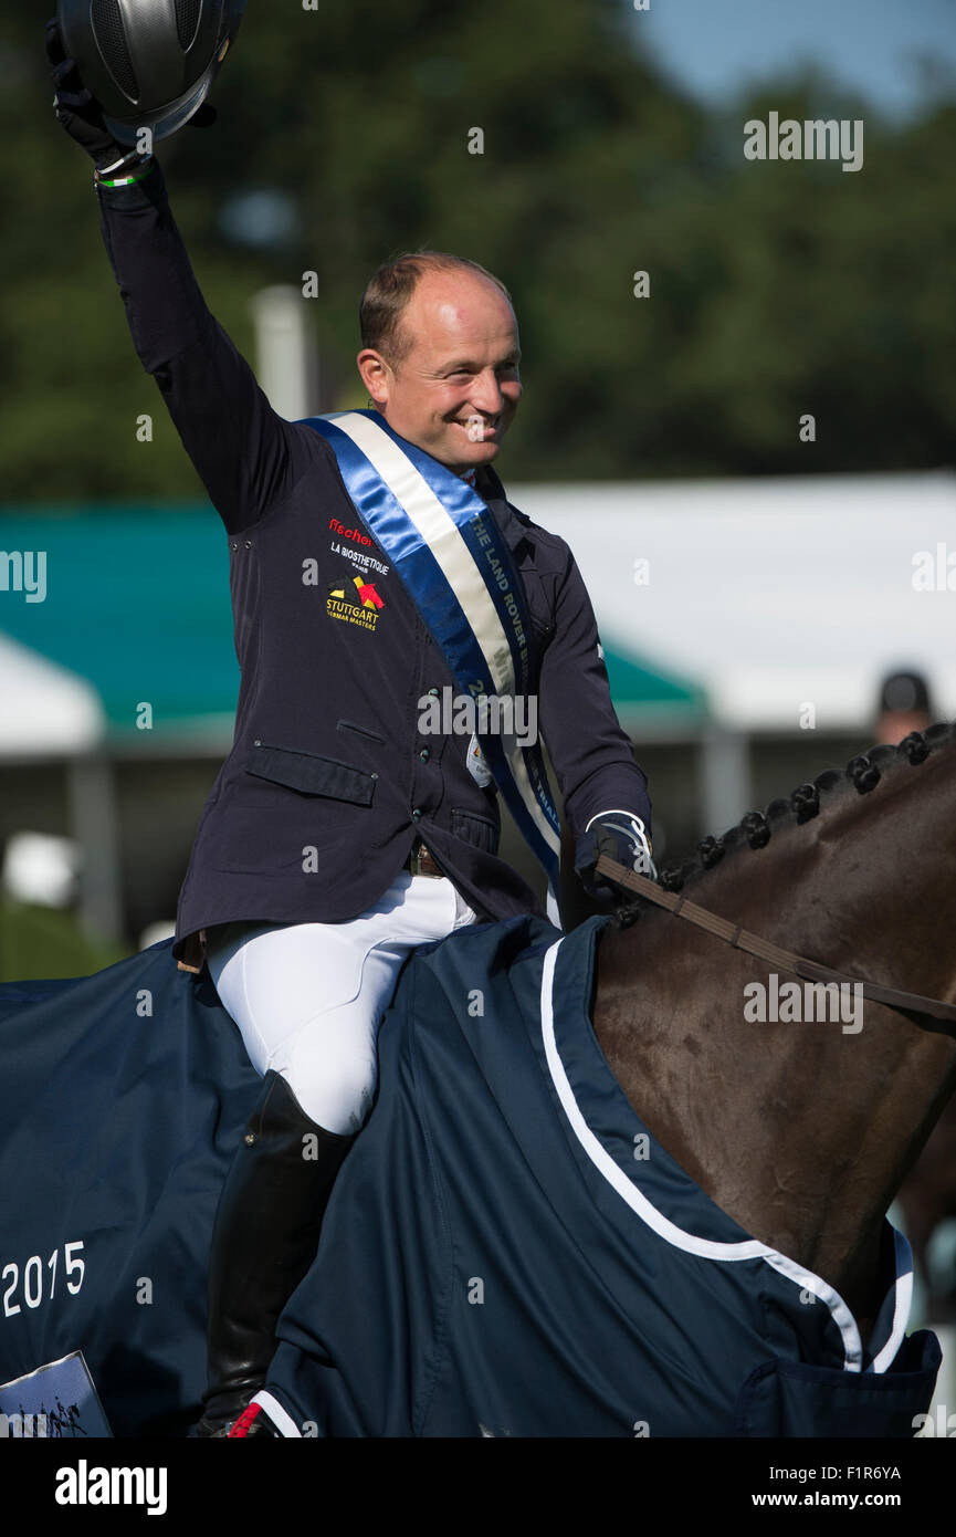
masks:
<instances>
[{"instance_id":1,"label":"brown horse's neck and chest in front of the rug","mask_svg":"<svg viewBox=\"0 0 956 1537\"><path fill-rule=\"evenodd\" d=\"M850 976L953 1001L954 767L941 750L899 768L765 848L727 856L685 895ZM835 1285L864 1326L882 1216L953 1093L956 1042L870 1002L859 1030L749 1022L753 984L770 1001L770 970L647 913L601 944L595 1031L684 1170L749 1233Z\"/></svg>"}]
</instances>

